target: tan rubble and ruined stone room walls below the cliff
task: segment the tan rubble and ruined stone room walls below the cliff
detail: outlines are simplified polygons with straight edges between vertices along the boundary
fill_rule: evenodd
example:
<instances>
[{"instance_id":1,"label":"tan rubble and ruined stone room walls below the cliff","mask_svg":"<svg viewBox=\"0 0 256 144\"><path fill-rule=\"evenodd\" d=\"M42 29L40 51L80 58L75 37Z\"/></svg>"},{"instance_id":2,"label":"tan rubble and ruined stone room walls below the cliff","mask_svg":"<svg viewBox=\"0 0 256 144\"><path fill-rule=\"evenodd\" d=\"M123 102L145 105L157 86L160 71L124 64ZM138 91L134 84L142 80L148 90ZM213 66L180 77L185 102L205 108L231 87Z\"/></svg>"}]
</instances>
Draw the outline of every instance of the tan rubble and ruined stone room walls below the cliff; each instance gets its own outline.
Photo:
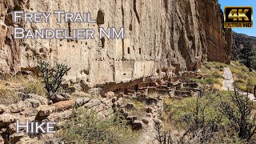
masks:
<instances>
[{"instance_id":1,"label":"tan rubble and ruined stone room walls below the cliff","mask_svg":"<svg viewBox=\"0 0 256 144\"><path fill-rule=\"evenodd\" d=\"M78 107L95 110L105 118L119 111L132 129L139 131L138 143L156 143L154 124L162 122L160 116L163 99L191 97L199 91L197 83L156 81L124 92L109 91L95 96L74 90L72 94L53 94L49 100L46 96L20 92L22 85L18 83L6 82L6 87L14 90L20 101L0 105L0 143L60 142L61 139L56 134L31 135L25 134L25 130L16 134L16 120L24 124L26 120L57 122L56 129L60 130L71 118L72 111ZM71 88L70 86L69 89Z\"/></svg>"}]
</instances>

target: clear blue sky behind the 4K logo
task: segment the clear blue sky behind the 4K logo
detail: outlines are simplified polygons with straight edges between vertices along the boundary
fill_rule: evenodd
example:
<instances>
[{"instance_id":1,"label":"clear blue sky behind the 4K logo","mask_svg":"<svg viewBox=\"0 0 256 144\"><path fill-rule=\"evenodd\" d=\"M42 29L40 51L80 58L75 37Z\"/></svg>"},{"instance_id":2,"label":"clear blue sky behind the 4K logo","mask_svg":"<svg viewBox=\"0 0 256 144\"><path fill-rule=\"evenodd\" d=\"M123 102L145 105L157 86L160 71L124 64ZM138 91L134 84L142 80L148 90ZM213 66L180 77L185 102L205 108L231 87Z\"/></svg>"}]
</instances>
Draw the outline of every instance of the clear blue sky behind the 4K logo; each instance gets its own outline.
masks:
<instances>
[{"instance_id":1,"label":"clear blue sky behind the 4K logo","mask_svg":"<svg viewBox=\"0 0 256 144\"><path fill-rule=\"evenodd\" d=\"M256 37L256 0L218 0L222 10L224 6L254 6L254 26L253 28L232 28L237 33L247 34Z\"/></svg>"}]
</instances>

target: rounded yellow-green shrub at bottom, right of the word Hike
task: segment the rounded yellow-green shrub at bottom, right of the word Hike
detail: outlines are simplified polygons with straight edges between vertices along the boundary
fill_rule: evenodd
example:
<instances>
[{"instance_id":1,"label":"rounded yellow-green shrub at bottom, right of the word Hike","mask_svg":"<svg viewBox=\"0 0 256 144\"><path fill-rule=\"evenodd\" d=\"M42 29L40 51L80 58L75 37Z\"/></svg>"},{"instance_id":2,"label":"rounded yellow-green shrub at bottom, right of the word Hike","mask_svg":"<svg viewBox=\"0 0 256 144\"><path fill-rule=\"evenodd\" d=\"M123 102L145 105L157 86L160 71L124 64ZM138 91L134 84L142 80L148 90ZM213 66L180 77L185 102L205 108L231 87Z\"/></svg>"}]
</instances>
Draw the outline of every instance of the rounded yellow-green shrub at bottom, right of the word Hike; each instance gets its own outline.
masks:
<instances>
[{"instance_id":1,"label":"rounded yellow-green shrub at bottom, right of the word Hike","mask_svg":"<svg viewBox=\"0 0 256 144\"><path fill-rule=\"evenodd\" d=\"M133 143L137 134L116 117L101 118L94 112L75 110L62 129L62 140L66 143Z\"/></svg>"}]
</instances>

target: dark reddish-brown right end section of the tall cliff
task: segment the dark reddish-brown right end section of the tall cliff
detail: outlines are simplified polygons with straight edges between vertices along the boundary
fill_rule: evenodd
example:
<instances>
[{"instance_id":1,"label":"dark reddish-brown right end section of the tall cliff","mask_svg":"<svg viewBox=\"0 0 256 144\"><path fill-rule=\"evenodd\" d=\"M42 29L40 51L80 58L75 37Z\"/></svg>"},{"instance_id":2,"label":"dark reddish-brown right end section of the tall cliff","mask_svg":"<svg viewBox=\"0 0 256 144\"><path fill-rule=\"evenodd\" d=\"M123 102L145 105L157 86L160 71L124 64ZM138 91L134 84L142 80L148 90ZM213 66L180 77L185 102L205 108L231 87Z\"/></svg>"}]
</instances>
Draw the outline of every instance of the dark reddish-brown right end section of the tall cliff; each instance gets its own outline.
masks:
<instances>
[{"instance_id":1,"label":"dark reddish-brown right end section of the tall cliff","mask_svg":"<svg viewBox=\"0 0 256 144\"><path fill-rule=\"evenodd\" d=\"M223 29L224 14L217 0L198 1L200 24L206 34L208 61L230 62L231 29Z\"/></svg>"}]
</instances>

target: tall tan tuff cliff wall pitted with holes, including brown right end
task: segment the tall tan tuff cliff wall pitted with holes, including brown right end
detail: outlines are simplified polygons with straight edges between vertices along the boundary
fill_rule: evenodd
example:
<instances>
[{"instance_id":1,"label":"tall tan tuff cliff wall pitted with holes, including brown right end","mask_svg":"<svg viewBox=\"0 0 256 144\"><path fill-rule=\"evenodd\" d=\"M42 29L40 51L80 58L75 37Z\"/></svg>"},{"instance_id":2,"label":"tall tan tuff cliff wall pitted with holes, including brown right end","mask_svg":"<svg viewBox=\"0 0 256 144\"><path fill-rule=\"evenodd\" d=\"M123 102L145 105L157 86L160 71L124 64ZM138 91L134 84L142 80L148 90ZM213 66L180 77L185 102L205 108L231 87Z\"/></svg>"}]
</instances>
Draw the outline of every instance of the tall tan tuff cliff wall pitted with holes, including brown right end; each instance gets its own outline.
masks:
<instances>
[{"instance_id":1,"label":"tall tan tuff cliff wall pitted with holes, including brown right end","mask_svg":"<svg viewBox=\"0 0 256 144\"><path fill-rule=\"evenodd\" d=\"M206 59L229 62L230 30L214 0L0 0L0 70L33 70L38 60L71 66L68 76L90 86L137 78L172 77L198 70ZM126 29L125 39L14 40L14 26L25 29L94 28L94 23L57 24L12 21L13 10L90 12L102 27ZM99 47L102 43L103 47ZM208 56L207 56L208 55Z\"/></svg>"}]
</instances>

